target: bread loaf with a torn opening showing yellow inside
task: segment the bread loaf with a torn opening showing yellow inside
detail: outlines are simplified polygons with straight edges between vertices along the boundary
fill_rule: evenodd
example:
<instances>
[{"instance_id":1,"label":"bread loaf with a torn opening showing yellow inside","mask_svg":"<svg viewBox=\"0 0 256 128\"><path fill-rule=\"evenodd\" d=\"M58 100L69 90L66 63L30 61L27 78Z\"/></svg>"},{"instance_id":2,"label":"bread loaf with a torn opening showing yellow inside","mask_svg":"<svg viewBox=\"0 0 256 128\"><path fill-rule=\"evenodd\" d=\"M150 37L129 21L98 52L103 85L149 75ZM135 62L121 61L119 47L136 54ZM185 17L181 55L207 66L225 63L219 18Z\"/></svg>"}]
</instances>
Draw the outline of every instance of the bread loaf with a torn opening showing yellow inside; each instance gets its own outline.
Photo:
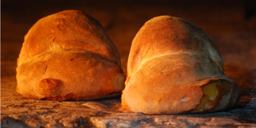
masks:
<instances>
[{"instance_id":1,"label":"bread loaf with a torn opening showing yellow inside","mask_svg":"<svg viewBox=\"0 0 256 128\"><path fill-rule=\"evenodd\" d=\"M229 108L239 87L223 73L215 42L177 17L148 20L128 58L122 108L146 114L200 113Z\"/></svg>"}]
</instances>

